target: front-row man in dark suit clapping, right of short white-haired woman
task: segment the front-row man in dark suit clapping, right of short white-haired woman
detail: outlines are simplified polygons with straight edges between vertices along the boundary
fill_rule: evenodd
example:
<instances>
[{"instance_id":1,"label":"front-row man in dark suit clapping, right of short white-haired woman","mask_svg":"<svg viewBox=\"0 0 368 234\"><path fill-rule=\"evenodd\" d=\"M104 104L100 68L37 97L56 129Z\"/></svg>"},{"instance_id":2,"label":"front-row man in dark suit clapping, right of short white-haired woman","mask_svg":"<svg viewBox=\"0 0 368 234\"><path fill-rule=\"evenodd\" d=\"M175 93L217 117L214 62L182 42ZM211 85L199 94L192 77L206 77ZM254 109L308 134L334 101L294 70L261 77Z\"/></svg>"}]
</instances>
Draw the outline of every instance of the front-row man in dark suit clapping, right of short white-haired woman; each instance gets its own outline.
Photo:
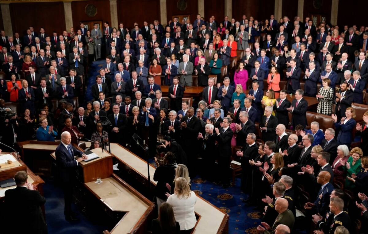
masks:
<instances>
[{"instance_id":1,"label":"front-row man in dark suit clapping, right of short white-haired woman","mask_svg":"<svg viewBox=\"0 0 368 234\"><path fill-rule=\"evenodd\" d=\"M219 181L224 188L229 186L229 165L231 156L231 138L233 131L230 129L231 118L224 117L221 128L215 128L219 149Z\"/></svg>"}]
</instances>

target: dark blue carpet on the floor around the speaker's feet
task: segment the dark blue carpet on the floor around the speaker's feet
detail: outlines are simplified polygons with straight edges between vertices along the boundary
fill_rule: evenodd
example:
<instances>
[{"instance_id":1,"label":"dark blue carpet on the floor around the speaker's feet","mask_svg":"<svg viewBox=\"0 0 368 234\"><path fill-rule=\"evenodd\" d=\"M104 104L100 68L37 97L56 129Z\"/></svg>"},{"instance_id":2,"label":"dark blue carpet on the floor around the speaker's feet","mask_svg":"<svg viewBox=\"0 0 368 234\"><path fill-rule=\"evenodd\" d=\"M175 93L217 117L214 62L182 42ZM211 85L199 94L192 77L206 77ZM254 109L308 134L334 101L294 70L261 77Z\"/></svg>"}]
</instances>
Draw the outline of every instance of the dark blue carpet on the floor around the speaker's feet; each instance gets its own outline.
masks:
<instances>
[{"instance_id":1,"label":"dark blue carpet on the floor around the speaker's feet","mask_svg":"<svg viewBox=\"0 0 368 234\"><path fill-rule=\"evenodd\" d=\"M78 213L79 222L71 223L65 220L64 216L64 193L59 186L56 186L53 181L46 180L43 185L43 192L46 198L45 212L47 231L52 234L100 234L108 227L98 225L95 222L89 221L83 214L78 212L77 207L72 205L74 212Z\"/></svg>"}]
</instances>

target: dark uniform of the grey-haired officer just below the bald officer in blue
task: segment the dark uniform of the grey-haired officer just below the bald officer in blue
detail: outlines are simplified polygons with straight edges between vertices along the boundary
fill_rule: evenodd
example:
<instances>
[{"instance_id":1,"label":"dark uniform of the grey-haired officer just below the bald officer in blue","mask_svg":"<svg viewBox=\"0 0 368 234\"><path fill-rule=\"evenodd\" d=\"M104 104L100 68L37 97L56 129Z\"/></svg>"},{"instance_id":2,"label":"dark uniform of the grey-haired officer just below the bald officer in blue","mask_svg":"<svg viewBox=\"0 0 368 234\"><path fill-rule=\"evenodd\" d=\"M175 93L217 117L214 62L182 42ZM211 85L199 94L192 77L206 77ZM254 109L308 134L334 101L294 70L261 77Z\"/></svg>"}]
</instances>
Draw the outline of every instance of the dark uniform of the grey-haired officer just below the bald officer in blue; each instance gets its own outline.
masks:
<instances>
[{"instance_id":1,"label":"dark uniform of the grey-haired officer just below the bald officer in blue","mask_svg":"<svg viewBox=\"0 0 368 234\"><path fill-rule=\"evenodd\" d=\"M343 211L336 216L330 212L327 218L318 222L319 229L321 229L325 234L333 234L336 230L336 227L339 226L344 226L347 228L347 230L350 230L350 225L350 217L346 211Z\"/></svg>"}]
</instances>

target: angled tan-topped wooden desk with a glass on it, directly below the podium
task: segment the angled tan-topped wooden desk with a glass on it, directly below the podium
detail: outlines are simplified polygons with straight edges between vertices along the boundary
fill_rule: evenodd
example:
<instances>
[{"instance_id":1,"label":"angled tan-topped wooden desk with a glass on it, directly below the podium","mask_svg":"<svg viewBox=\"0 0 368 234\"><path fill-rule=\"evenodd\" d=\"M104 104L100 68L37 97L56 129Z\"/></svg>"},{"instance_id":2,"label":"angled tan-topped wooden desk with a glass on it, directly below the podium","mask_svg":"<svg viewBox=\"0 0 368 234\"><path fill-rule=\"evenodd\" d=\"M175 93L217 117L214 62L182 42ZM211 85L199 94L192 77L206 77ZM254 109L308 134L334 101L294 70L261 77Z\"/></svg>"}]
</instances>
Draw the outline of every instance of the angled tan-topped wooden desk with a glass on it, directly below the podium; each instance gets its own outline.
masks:
<instances>
[{"instance_id":1,"label":"angled tan-topped wooden desk with a glass on it, directly below the podium","mask_svg":"<svg viewBox=\"0 0 368 234\"><path fill-rule=\"evenodd\" d=\"M102 181L101 184L91 181L85 186L112 211L126 212L111 233L146 233L148 217L155 205L115 174Z\"/></svg>"}]
</instances>

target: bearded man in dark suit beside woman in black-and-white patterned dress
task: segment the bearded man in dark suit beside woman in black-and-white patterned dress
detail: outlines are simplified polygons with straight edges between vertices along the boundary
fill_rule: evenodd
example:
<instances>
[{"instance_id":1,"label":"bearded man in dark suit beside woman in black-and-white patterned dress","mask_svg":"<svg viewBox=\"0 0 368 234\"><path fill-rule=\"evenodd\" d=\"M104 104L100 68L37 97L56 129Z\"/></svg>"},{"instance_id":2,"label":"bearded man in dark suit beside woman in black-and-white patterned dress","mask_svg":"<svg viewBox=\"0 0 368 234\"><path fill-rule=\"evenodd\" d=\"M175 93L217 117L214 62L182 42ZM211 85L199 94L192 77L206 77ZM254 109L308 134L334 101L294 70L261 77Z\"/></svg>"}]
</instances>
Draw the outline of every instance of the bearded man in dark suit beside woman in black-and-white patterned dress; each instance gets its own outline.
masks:
<instances>
[{"instance_id":1,"label":"bearded man in dark suit beside woman in black-and-white patterned dress","mask_svg":"<svg viewBox=\"0 0 368 234\"><path fill-rule=\"evenodd\" d=\"M347 72L350 73L350 71ZM353 99L353 92L348 90L348 84L342 83L340 85L339 92L336 93L335 98L333 99L333 103L336 104L336 109L334 112L337 115L338 121L340 121L341 117L345 117L346 108L351 106Z\"/></svg>"}]
</instances>

